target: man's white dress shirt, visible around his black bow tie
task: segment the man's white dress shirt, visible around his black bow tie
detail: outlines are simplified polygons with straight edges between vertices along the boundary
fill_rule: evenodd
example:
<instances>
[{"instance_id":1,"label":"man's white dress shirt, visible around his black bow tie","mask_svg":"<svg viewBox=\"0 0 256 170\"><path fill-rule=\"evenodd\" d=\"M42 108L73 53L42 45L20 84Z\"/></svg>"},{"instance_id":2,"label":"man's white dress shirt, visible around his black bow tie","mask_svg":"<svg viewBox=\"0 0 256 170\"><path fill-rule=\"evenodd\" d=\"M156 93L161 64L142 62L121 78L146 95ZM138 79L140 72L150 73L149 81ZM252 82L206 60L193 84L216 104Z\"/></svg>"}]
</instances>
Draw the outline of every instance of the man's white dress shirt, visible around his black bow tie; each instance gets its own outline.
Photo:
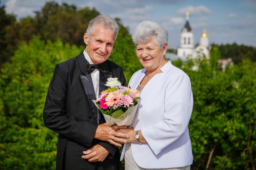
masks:
<instances>
[{"instance_id":1,"label":"man's white dress shirt, visible around his black bow tie","mask_svg":"<svg viewBox=\"0 0 256 170\"><path fill-rule=\"evenodd\" d=\"M92 59L88 56L88 54L85 52L84 50L84 57L85 59L90 63L92 63ZM91 77L92 77L92 84L94 87L94 92L95 92L95 96L96 99L98 99L99 97L99 79L100 79L100 71L98 69L95 69L92 73L91 73Z\"/></svg>"}]
</instances>

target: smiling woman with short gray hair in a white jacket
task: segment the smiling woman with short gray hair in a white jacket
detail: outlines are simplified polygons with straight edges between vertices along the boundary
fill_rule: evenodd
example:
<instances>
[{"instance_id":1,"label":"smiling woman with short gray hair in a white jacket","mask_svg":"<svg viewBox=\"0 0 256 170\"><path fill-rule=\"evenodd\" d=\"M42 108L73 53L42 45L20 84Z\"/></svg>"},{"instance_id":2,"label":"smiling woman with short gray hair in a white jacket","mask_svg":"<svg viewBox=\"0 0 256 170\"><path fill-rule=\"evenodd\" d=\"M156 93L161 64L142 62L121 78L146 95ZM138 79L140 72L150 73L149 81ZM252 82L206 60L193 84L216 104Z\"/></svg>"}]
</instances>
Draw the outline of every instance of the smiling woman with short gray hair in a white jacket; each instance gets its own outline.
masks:
<instances>
[{"instance_id":1,"label":"smiling woman with short gray hair in a white jacket","mask_svg":"<svg viewBox=\"0 0 256 170\"><path fill-rule=\"evenodd\" d=\"M133 124L119 129L130 136L121 155L121 160L125 157L125 169L190 169L190 79L165 60L168 32L160 24L140 23L132 39L144 69L134 73L129 82L131 88L141 91Z\"/></svg>"}]
</instances>

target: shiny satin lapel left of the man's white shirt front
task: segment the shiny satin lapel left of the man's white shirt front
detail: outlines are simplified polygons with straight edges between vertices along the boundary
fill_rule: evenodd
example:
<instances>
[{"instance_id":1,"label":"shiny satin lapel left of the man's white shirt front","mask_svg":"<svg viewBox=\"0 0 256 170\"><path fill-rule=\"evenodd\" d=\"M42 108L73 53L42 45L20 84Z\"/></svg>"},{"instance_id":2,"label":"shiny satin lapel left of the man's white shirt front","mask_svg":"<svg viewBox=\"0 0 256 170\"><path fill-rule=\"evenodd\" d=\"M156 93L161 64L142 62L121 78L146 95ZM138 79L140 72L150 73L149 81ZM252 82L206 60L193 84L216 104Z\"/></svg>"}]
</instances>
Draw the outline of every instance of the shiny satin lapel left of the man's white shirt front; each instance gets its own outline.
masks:
<instances>
[{"instance_id":1,"label":"shiny satin lapel left of the man's white shirt front","mask_svg":"<svg viewBox=\"0 0 256 170\"><path fill-rule=\"evenodd\" d=\"M80 75L80 79L81 79L82 84L84 86L84 91L87 95L87 98L88 98L93 116L99 124L98 109L92 101L92 100L96 100L94 87L93 87L93 84L92 84L92 77L91 77L90 74L87 74L86 76Z\"/></svg>"}]
</instances>

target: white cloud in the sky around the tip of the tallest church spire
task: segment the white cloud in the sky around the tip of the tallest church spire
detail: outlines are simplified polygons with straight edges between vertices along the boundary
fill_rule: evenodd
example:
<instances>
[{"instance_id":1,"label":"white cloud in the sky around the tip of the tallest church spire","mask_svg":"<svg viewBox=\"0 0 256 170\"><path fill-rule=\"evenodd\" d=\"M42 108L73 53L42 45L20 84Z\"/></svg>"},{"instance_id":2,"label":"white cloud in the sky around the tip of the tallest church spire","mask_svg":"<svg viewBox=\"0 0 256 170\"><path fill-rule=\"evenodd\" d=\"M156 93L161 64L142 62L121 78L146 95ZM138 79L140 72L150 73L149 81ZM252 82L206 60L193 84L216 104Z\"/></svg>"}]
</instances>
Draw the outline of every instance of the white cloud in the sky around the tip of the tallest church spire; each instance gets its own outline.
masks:
<instances>
[{"instance_id":1,"label":"white cloud in the sky around the tip of the tallest church spire","mask_svg":"<svg viewBox=\"0 0 256 170\"><path fill-rule=\"evenodd\" d=\"M211 10L205 7L204 5L200 5L197 7L188 6L188 7L177 10L176 13L180 16L185 16L186 11L189 12L189 15L193 15L193 16L200 16L200 15L211 13Z\"/></svg>"}]
</instances>

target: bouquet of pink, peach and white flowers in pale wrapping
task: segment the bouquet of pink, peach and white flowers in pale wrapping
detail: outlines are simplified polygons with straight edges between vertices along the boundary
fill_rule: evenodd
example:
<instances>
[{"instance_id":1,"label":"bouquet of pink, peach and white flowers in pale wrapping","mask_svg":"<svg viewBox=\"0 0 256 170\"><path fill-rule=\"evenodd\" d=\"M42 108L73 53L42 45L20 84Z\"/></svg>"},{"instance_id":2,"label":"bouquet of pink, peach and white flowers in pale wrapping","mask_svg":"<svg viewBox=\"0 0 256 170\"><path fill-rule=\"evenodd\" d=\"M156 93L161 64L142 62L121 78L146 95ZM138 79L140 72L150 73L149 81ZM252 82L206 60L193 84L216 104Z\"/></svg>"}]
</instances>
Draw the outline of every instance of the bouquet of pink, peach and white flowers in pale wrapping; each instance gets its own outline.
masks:
<instances>
[{"instance_id":1,"label":"bouquet of pink, peach and white flowers in pale wrapping","mask_svg":"<svg viewBox=\"0 0 256 170\"><path fill-rule=\"evenodd\" d=\"M121 86L118 78L108 78L107 90L93 100L102 112L108 126L129 126L132 124L140 93L136 89Z\"/></svg>"}]
</instances>

